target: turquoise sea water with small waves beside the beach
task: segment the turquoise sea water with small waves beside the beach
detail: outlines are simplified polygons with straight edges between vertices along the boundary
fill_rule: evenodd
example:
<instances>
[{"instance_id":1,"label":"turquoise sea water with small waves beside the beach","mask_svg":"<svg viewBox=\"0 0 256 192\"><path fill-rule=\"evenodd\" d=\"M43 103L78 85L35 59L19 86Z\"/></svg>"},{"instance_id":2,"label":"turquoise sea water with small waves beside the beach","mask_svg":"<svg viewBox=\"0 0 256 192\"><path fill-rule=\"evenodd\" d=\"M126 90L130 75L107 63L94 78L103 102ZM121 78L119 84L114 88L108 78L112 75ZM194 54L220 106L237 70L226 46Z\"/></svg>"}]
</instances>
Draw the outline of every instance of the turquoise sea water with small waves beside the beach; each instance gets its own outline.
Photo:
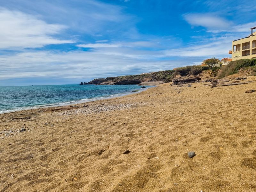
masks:
<instances>
[{"instance_id":1,"label":"turquoise sea water with small waves beside the beach","mask_svg":"<svg viewBox=\"0 0 256 192\"><path fill-rule=\"evenodd\" d=\"M147 86L149 87L149 86ZM106 97L121 96L138 85L34 85L0 87L0 113L29 108L69 105Z\"/></svg>"}]
</instances>

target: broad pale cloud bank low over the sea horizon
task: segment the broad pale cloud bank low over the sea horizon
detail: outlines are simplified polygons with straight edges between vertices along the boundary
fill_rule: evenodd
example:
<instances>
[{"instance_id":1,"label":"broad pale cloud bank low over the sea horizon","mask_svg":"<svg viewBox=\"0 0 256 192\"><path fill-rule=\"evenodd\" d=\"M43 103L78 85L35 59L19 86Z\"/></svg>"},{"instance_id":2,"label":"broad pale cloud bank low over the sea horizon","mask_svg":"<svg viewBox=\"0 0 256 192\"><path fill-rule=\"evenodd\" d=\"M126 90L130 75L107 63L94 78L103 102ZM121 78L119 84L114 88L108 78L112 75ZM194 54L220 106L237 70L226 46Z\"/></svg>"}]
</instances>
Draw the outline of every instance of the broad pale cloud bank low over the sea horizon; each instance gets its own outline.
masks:
<instances>
[{"instance_id":1,"label":"broad pale cloud bank low over the sea horizon","mask_svg":"<svg viewBox=\"0 0 256 192\"><path fill-rule=\"evenodd\" d=\"M97 77L139 74L168 70L198 59L160 60L161 52L140 51L130 48L102 48L90 52L22 52L0 56L0 80L12 78L66 78L88 79Z\"/></svg>"}]
</instances>

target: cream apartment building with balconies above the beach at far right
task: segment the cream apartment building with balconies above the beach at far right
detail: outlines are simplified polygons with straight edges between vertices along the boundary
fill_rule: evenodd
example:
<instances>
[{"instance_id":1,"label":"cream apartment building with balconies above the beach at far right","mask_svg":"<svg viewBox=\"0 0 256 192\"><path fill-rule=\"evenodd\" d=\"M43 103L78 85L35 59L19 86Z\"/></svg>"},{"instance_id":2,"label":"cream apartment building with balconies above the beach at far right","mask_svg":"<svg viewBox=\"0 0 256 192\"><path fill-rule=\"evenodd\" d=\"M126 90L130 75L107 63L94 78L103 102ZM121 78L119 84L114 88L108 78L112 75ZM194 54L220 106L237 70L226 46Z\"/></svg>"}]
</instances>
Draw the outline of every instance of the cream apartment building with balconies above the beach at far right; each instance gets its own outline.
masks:
<instances>
[{"instance_id":1,"label":"cream apartment building with balconies above the beach at far right","mask_svg":"<svg viewBox=\"0 0 256 192\"><path fill-rule=\"evenodd\" d=\"M242 39L237 39L232 42L232 50L229 50L229 54L232 54L232 61L239 59L256 59L256 32Z\"/></svg>"}]
</instances>

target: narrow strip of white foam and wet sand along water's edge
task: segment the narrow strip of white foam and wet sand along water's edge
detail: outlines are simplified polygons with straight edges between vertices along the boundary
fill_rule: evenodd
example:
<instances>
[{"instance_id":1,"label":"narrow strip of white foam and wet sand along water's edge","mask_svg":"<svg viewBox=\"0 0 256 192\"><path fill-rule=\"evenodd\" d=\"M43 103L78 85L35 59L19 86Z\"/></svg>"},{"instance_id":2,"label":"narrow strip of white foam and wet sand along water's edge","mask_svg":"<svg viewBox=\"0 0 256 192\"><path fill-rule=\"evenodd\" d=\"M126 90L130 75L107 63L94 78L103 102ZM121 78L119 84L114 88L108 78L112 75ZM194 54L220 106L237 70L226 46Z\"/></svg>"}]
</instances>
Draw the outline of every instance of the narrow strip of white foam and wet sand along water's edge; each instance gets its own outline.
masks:
<instances>
[{"instance_id":1,"label":"narrow strip of white foam and wet sand along water's edge","mask_svg":"<svg viewBox=\"0 0 256 192\"><path fill-rule=\"evenodd\" d=\"M108 86L112 86L112 85L108 85ZM138 85L141 86L141 85ZM143 86L143 85L142 85ZM83 103L88 103L88 102L92 102L92 101L97 101L97 100L105 100L105 99L112 99L112 98L116 98L116 97L123 97L126 95L130 95L130 94L135 94L135 93L140 93L143 91L146 91L147 89L151 88L151 87L155 87L157 85L147 85L150 87L146 87L143 88L141 90L139 90L138 92L126 92L126 93L119 93L116 95L110 95L110 96L104 96L104 97L98 97L98 98L92 98L92 99L81 99L81 100L75 100L75 101L67 101L67 102L63 102L63 103L53 103L53 104L45 104L42 106L33 106L33 107L23 107L23 108L18 108L18 109L10 109L10 110L5 110L4 112L0 111L0 114L6 114L6 113L13 113L13 112L18 112L18 111L25 111L25 110L33 110L33 109L41 109L41 108L52 108L52 107L65 107L65 106L70 106L73 104L83 104Z\"/></svg>"}]
</instances>

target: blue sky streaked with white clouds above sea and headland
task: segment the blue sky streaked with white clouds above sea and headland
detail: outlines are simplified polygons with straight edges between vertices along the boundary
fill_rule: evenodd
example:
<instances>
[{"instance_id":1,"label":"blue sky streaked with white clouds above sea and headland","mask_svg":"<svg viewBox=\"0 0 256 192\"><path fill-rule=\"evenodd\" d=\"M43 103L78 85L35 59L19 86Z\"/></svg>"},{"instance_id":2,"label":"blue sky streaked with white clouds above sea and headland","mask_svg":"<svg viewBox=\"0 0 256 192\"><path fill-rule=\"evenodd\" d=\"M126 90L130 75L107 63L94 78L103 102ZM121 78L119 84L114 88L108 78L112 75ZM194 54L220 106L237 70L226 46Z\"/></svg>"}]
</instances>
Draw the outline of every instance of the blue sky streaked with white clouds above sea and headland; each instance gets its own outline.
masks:
<instances>
[{"instance_id":1,"label":"blue sky streaked with white clouds above sea and headland","mask_svg":"<svg viewBox=\"0 0 256 192\"><path fill-rule=\"evenodd\" d=\"M231 57L256 0L0 0L0 86L79 84Z\"/></svg>"}]
</instances>

